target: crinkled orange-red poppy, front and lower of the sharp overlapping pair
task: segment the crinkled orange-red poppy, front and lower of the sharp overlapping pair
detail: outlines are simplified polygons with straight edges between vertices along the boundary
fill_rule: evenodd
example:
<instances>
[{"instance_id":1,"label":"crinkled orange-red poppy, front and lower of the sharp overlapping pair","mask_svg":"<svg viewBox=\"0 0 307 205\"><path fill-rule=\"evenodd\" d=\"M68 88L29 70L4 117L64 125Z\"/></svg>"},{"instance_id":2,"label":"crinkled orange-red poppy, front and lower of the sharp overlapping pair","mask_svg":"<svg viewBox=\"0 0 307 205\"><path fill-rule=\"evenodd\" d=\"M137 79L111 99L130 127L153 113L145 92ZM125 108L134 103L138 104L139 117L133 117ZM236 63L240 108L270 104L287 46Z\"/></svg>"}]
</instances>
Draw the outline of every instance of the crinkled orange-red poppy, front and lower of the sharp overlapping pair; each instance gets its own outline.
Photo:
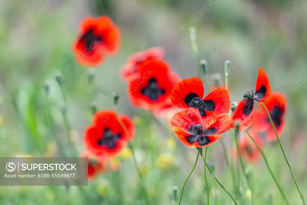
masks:
<instances>
[{"instance_id":1,"label":"crinkled orange-red poppy, front and lower of the sharp overlapping pair","mask_svg":"<svg viewBox=\"0 0 307 205\"><path fill-rule=\"evenodd\" d=\"M176 113L171 119L173 130L187 147L206 147L215 143L227 132L232 119L227 113L216 116L206 111L206 117L200 115L198 109L188 108Z\"/></svg>"}]
</instances>

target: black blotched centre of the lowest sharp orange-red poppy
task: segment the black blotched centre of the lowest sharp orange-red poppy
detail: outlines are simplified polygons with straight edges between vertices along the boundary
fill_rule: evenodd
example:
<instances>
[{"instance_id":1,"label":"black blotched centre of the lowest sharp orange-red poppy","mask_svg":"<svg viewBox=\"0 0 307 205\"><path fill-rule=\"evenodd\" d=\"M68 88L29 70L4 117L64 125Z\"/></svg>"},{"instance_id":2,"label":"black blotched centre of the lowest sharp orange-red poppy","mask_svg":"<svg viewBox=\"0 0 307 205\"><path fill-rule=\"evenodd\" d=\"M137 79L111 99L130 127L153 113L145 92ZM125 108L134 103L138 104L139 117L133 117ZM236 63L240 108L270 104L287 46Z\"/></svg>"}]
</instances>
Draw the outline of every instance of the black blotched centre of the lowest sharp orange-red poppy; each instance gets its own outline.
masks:
<instances>
[{"instance_id":1,"label":"black blotched centre of the lowest sharp orange-red poppy","mask_svg":"<svg viewBox=\"0 0 307 205\"><path fill-rule=\"evenodd\" d=\"M185 137L188 143L193 144L197 141L200 146L204 146L211 142L208 135L214 135L217 132L217 129L216 127L204 129L202 125L198 124L189 126L188 132L191 134L190 136Z\"/></svg>"}]
</instances>

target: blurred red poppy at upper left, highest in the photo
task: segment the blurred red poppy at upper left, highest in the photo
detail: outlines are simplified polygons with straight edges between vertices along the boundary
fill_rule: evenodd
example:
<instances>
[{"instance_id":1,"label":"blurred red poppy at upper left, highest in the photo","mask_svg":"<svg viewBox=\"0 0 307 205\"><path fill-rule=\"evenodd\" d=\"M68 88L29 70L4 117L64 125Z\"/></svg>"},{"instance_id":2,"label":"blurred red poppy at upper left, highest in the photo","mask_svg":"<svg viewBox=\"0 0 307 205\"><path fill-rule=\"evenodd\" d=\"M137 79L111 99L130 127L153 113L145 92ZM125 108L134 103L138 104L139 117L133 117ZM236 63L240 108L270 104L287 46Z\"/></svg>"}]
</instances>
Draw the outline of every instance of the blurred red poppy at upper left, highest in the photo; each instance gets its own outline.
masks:
<instances>
[{"instance_id":1,"label":"blurred red poppy at upper left, highest in the photo","mask_svg":"<svg viewBox=\"0 0 307 205\"><path fill-rule=\"evenodd\" d=\"M120 30L108 16L85 18L80 25L80 35L73 44L76 63L98 66L105 54L115 54L120 45Z\"/></svg>"}]
</instances>

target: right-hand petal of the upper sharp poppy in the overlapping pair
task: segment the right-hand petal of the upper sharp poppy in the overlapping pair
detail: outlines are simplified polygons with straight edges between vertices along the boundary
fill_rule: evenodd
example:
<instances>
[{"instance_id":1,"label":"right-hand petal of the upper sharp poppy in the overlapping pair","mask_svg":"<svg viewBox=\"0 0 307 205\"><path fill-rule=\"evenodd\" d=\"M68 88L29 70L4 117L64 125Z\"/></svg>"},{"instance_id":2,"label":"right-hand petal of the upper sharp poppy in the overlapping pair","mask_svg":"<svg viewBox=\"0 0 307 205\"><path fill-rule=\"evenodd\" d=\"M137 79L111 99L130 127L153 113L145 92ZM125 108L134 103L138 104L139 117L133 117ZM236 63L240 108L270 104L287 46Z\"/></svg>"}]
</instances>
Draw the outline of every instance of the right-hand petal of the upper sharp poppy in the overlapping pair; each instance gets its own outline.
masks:
<instances>
[{"instance_id":1,"label":"right-hand petal of the upper sharp poppy in the overlapping pair","mask_svg":"<svg viewBox=\"0 0 307 205\"><path fill-rule=\"evenodd\" d=\"M229 113L230 98L226 89L216 88L204 98L204 102L208 105L205 110L215 112L216 115Z\"/></svg>"}]
</instances>

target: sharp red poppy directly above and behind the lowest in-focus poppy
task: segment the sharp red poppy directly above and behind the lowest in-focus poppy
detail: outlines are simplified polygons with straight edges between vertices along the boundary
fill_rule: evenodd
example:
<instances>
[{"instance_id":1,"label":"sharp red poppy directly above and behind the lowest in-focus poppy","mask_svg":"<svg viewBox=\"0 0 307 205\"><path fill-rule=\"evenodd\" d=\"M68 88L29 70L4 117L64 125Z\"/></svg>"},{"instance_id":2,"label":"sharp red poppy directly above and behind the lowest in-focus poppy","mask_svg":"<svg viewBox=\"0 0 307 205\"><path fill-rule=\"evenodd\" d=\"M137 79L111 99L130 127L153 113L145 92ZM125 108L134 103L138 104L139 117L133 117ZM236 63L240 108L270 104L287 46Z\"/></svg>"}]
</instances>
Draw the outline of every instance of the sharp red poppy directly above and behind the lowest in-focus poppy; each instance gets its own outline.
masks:
<instances>
[{"instance_id":1,"label":"sharp red poppy directly above and behind the lowest in-focus poppy","mask_svg":"<svg viewBox=\"0 0 307 205\"><path fill-rule=\"evenodd\" d=\"M203 81L194 77L178 83L172 90L171 99L176 107L197 108L202 116L206 116L206 111L212 111L216 115L229 112L230 99L226 89L216 88L204 99L203 96Z\"/></svg>"}]
</instances>

